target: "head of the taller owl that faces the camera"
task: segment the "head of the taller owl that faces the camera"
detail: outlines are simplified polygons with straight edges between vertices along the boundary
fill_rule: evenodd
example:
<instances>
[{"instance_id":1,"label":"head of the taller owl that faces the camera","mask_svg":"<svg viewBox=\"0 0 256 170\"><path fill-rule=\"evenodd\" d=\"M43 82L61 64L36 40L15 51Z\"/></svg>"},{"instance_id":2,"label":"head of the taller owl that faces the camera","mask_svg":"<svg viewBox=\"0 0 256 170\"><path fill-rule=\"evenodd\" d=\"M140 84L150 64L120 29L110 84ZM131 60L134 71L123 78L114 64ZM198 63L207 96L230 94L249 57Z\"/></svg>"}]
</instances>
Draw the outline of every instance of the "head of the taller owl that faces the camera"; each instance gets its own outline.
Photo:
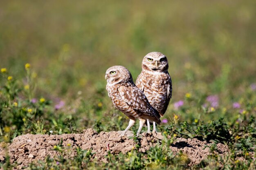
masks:
<instances>
[{"instance_id":1,"label":"head of the taller owl that faces the camera","mask_svg":"<svg viewBox=\"0 0 256 170\"><path fill-rule=\"evenodd\" d=\"M142 60L142 69L157 72L168 71L168 60L162 53L148 53Z\"/></svg>"}]
</instances>

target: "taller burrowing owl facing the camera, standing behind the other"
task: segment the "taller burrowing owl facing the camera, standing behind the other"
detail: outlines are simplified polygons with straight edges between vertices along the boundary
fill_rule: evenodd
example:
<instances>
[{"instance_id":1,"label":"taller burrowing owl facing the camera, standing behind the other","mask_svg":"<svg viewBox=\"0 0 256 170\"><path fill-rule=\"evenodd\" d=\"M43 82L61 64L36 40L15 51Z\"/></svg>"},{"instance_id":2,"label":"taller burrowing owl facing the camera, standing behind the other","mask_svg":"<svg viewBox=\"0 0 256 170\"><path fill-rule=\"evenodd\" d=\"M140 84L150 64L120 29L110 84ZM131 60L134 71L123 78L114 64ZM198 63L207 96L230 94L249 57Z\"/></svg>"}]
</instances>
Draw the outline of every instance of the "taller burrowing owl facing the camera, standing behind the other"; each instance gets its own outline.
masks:
<instances>
[{"instance_id":1,"label":"taller burrowing owl facing the camera, standing behind the other","mask_svg":"<svg viewBox=\"0 0 256 170\"><path fill-rule=\"evenodd\" d=\"M136 80L136 86L143 91L151 106L163 116L172 97L171 76L168 73L168 61L164 54L151 52L143 58L142 71ZM147 124L150 132L148 121ZM153 122L153 132L155 130L155 122Z\"/></svg>"}]
</instances>

